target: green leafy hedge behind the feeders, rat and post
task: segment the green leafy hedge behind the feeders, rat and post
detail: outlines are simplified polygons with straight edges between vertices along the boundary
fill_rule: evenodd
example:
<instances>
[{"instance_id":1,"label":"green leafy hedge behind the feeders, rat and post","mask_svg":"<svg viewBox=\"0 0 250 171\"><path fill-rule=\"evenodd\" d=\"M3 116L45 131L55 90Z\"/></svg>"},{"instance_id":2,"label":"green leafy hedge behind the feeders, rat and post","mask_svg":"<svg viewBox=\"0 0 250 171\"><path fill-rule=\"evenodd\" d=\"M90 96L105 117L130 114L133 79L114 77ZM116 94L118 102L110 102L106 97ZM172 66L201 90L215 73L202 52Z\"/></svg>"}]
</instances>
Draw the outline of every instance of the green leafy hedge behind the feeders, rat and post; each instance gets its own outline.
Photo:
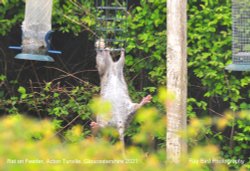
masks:
<instances>
[{"instance_id":1,"label":"green leafy hedge behind the feeders, rat and post","mask_svg":"<svg viewBox=\"0 0 250 171\"><path fill-rule=\"evenodd\" d=\"M53 2L55 32L52 45L63 52L61 56L53 56L55 63L14 59L17 52L9 50L8 46L21 44L25 3L23 0L4 0L0 4L0 115L25 114L47 118L63 142L88 141L87 137L91 136L89 123L95 119L90 102L99 93L94 49L95 4L92 0ZM232 62L231 24L231 0L188 1L188 122L196 125L196 129L188 129L192 137L188 142L191 151L195 146L214 144L219 149L214 150L216 155L225 159L242 159L245 167L250 168L250 122L238 117L238 111L250 110L250 73L224 70ZM150 117L157 113L159 118L164 118L164 105L156 94L158 87L165 86L166 82L166 0L129 1L127 29L124 72L130 95L134 101L140 101L146 94L152 94L153 102L149 106L154 106L157 112L153 109L144 113L149 113ZM203 123L200 118L207 119ZM141 119L133 121L127 130L126 144L151 153L161 151L165 148L165 136L161 131L157 132L157 127L144 126ZM211 125L215 121L219 124ZM75 125L84 128L80 129L80 136L74 135L74 130L79 131ZM149 137L138 135L142 130L153 132L145 134ZM37 134L36 139L41 138ZM110 139L112 144L116 140ZM149 141L150 148L148 144L140 145L145 140L152 140ZM36 144L32 146L27 150L31 152ZM77 149L77 145L74 148ZM91 148L94 149L94 145ZM100 150L106 149L100 147ZM196 151L202 153L202 149ZM67 156L66 153L61 155ZM164 157L160 158L159 161L164 161ZM229 166L231 169L241 167L234 163Z\"/></svg>"}]
</instances>

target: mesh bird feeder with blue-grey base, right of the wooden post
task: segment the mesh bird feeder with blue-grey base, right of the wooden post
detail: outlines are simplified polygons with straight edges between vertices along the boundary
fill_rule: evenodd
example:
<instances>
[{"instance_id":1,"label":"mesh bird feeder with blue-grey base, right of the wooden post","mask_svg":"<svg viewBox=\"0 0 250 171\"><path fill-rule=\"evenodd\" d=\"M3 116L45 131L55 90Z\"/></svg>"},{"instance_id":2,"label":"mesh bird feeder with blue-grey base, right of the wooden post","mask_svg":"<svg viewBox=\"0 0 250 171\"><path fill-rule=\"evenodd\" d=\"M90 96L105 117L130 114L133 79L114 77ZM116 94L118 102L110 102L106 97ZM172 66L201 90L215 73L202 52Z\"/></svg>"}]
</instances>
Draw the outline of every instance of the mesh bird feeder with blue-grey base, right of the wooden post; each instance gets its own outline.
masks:
<instances>
[{"instance_id":1,"label":"mesh bird feeder with blue-grey base, right of the wooden post","mask_svg":"<svg viewBox=\"0 0 250 171\"><path fill-rule=\"evenodd\" d=\"M250 71L250 0L232 0L232 71Z\"/></svg>"}]
</instances>

